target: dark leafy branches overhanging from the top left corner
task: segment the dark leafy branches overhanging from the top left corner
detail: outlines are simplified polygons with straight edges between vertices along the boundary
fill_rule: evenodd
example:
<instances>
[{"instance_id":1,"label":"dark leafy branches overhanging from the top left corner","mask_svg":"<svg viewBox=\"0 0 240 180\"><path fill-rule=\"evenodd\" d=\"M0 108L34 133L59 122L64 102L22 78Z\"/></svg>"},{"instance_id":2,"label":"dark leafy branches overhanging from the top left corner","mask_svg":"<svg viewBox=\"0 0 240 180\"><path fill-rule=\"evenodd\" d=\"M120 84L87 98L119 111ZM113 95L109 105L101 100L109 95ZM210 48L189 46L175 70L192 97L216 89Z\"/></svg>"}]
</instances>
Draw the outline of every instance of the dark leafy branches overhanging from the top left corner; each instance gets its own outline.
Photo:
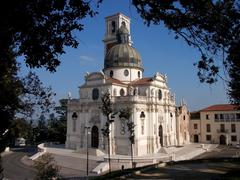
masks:
<instances>
[{"instance_id":1,"label":"dark leafy branches overhanging from the top left corner","mask_svg":"<svg viewBox=\"0 0 240 180\"><path fill-rule=\"evenodd\" d=\"M24 56L26 64L55 71L64 46L77 47L74 30L81 20L94 16L85 0L9 0L0 7L0 49ZM8 60L8 59L7 59Z\"/></svg>"}]
</instances>

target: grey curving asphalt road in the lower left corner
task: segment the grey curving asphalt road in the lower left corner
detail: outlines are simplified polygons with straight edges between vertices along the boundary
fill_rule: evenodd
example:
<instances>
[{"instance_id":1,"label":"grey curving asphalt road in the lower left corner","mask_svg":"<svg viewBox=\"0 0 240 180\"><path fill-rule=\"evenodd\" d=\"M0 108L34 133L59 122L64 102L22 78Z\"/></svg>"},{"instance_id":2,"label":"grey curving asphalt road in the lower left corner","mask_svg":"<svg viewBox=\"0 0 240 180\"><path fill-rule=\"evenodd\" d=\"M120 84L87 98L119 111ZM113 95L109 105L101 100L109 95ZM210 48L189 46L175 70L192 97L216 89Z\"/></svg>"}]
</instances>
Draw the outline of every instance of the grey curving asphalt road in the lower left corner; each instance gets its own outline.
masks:
<instances>
[{"instance_id":1,"label":"grey curving asphalt road in the lower left corner","mask_svg":"<svg viewBox=\"0 0 240 180\"><path fill-rule=\"evenodd\" d=\"M31 148L16 148L13 149L12 153L3 156L4 178L11 180L33 179L36 171L21 162L21 159L32 151Z\"/></svg>"}]
</instances>

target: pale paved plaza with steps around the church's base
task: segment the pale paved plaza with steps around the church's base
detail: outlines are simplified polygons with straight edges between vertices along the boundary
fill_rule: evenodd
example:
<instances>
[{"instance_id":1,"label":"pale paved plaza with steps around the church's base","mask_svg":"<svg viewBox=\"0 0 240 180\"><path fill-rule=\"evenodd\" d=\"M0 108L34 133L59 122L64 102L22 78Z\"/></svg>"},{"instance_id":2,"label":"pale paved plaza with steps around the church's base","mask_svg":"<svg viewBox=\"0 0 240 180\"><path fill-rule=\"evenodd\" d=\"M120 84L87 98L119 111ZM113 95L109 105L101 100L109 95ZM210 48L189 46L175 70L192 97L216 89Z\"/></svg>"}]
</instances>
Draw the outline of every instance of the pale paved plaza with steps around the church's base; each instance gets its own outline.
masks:
<instances>
[{"instance_id":1,"label":"pale paved plaza with steps around the church's base","mask_svg":"<svg viewBox=\"0 0 240 180\"><path fill-rule=\"evenodd\" d=\"M157 162L168 162L168 161L179 161L192 159L200 154L211 151L217 147L216 144L202 144L193 143L182 147L164 147L159 153L152 155L134 157L134 161L137 162L136 166L144 166L149 164L154 164ZM86 154L78 153L74 150L57 148L57 147L45 147L46 152L52 154L56 163L61 166L61 174L63 177L83 177L86 176L86 164L87 156ZM94 156L89 154L89 175L96 176L96 172L92 171L96 167L108 166L106 160L107 155ZM105 161L104 161L105 159ZM111 168L112 170L118 170L123 168L131 167L131 157L123 155L112 155L111 156ZM26 160L24 160L26 163ZM29 162L28 162L29 163Z\"/></svg>"}]
</instances>

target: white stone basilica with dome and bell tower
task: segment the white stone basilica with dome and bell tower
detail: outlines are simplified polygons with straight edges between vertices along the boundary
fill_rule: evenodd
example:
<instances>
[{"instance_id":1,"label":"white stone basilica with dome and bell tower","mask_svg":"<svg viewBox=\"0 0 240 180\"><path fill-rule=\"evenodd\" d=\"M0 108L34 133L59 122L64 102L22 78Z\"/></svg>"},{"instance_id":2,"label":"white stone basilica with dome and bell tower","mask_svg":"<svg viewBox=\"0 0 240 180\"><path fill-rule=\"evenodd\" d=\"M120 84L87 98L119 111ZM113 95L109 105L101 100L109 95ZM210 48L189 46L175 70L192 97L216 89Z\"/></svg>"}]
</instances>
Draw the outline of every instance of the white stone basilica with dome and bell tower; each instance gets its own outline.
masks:
<instances>
[{"instance_id":1,"label":"white stone basilica with dome and bell tower","mask_svg":"<svg viewBox=\"0 0 240 180\"><path fill-rule=\"evenodd\" d=\"M106 92L110 93L115 111L125 107L132 111L134 156L188 143L189 113L183 111L186 107L176 107L166 75L157 72L152 77L143 76L141 56L132 45L130 19L118 13L105 21L104 68L101 72L87 73L85 83L79 88L79 99L68 101L66 148L85 149L88 144L90 148L108 152L108 143L101 132L106 117L99 108L101 96ZM186 132L180 127L186 127ZM116 115L110 126L110 153L130 155L128 137L126 122Z\"/></svg>"}]
</instances>

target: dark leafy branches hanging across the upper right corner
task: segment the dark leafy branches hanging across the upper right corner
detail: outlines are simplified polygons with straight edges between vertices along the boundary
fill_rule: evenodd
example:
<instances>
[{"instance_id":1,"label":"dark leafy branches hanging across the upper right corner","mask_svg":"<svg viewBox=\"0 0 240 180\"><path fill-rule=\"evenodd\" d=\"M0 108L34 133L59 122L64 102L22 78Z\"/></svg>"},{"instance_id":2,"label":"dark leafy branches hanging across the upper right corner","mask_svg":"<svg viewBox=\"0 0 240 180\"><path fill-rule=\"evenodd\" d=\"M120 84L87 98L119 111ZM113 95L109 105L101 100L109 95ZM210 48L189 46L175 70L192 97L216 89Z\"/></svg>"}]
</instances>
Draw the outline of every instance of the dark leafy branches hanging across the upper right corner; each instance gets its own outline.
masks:
<instances>
[{"instance_id":1,"label":"dark leafy branches hanging across the upper right corner","mask_svg":"<svg viewBox=\"0 0 240 180\"><path fill-rule=\"evenodd\" d=\"M172 30L201 53L195 64L200 82L220 77L232 103L240 103L240 3L237 0L132 0L147 25ZM220 69L222 68L222 69ZM226 72L224 77L220 70Z\"/></svg>"}]
</instances>

